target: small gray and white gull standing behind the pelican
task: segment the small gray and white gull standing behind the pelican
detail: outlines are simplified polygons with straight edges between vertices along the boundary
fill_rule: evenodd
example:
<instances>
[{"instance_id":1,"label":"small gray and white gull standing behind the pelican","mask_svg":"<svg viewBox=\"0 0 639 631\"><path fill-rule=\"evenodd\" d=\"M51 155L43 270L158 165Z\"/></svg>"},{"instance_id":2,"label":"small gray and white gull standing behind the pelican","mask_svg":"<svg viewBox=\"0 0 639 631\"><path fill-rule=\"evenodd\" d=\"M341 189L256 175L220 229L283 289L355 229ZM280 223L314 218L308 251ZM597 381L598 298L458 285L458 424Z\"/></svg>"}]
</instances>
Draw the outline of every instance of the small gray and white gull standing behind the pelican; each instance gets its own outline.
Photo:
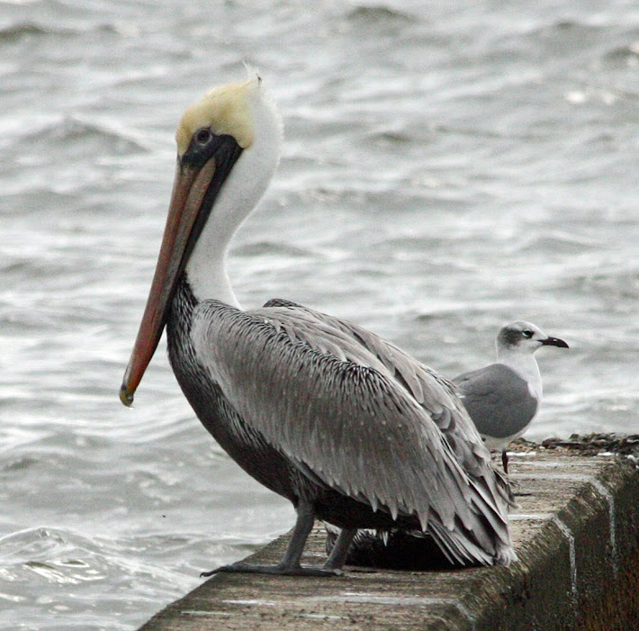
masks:
<instances>
[{"instance_id":1,"label":"small gray and white gull standing behind the pelican","mask_svg":"<svg viewBox=\"0 0 639 631\"><path fill-rule=\"evenodd\" d=\"M500 330L496 347L495 364L460 374L453 382L486 446L501 449L501 463L508 473L506 448L527 430L542 401L542 378L534 353L541 347L568 348L568 344L517 320Z\"/></svg>"}]
</instances>

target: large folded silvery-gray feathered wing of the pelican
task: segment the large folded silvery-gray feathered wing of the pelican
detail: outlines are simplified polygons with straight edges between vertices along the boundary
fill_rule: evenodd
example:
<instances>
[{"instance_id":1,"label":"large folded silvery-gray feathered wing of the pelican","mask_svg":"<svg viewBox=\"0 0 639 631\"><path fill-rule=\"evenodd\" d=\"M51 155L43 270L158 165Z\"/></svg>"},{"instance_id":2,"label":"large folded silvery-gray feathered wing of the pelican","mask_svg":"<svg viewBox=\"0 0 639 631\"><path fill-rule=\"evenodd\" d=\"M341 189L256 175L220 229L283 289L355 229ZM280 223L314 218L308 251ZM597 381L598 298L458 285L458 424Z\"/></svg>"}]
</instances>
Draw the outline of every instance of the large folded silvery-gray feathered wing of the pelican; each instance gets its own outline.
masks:
<instances>
[{"instance_id":1,"label":"large folded silvery-gray feathered wing of the pelican","mask_svg":"<svg viewBox=\"0 0 639 631\"><path fill-rule=\"evenodd\" d=\"M366 344L358 339L364 334ZM483 550L502 560L512 554L495 474L488 489L469 480L421 405L423 388L419 401L367 347L381 348L381 338L364 329L354 335L340 320L297 306L243 312L216 301L197 307L192 338L245 422L302 471L393 518L415 515L439 538L462 524ZM438 396L455 410L452 390ZM433 401L442 413L444 405ZM449 545L477 558L459 551L464 543Z\"/></svg>"}]
</instances>

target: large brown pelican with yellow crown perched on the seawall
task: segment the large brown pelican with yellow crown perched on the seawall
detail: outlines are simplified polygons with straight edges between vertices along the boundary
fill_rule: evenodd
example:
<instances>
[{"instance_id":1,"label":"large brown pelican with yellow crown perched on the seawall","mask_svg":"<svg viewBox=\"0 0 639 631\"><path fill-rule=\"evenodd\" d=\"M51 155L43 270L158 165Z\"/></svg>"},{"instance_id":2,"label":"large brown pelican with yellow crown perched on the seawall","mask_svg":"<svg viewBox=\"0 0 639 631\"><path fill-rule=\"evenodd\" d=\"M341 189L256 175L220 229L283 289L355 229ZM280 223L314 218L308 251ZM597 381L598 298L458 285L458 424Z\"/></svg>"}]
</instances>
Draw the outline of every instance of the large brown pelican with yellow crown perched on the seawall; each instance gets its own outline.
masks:
<instances>
[{"instance_id":1,"label":"large brown pelican with yellow crown perched on the seawall","mask_svg":"<svg viewBox=\"0 0 639 631\"><path fill-rule=\"evenodd\" d=\"M293 502L275 566L213 572L335 574L357 528L428 533L455 562L509 563L508 483L453 386L399 348L293 302L241 311L229 240L275 171L282 138L258 77L186 110L166 230L121 386L130 405L166 325L193 410L258 482ZM314 518L342 528L323 567L303 567Z\"/></svg>"}]
</instances>

